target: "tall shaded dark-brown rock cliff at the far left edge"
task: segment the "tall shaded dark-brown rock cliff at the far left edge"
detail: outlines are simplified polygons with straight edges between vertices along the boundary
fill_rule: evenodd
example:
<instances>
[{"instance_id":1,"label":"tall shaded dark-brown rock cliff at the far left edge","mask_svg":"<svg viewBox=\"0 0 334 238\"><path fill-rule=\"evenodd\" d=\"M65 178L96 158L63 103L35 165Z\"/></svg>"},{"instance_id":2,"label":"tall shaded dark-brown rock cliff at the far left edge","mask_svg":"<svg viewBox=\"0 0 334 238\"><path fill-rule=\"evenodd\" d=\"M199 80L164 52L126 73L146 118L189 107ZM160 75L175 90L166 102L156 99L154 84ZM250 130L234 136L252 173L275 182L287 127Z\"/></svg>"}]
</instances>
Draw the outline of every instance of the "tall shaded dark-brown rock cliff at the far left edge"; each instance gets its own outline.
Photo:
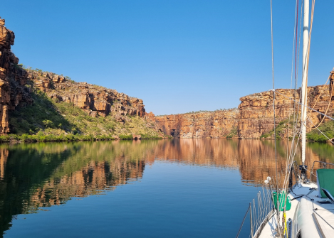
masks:
<instances>
[{"instance_id":1,"label":"tall shaded dark-brown rock cliff at the far left edge","mask_svg":"<svg viewBox=\"0 0 334 238\"><path fill-rule=\"evenodd\" d=\"M22 69L11 45L14 45L13 31L4 26L0 18L0 134L9 133L8 112L19 104L31 104L33 99L25 87L28 73Z\"/></svg>"}]
</instances>

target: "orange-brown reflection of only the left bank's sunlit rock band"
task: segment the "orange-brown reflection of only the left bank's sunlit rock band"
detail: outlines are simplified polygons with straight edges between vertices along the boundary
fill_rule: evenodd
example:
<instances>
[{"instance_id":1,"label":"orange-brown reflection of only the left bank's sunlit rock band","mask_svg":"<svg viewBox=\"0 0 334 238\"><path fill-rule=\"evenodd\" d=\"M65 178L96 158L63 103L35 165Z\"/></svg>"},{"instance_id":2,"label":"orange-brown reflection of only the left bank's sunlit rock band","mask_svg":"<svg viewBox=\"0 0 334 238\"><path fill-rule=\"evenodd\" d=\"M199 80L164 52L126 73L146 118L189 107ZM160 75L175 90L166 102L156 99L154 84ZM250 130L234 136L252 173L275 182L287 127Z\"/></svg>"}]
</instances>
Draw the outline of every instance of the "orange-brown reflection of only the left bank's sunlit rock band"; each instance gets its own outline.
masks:
<instances>
[{"instance_id":1,"label":"orange-brown reflection of only the left bank's sunlit rock band","mask_svg":"<svg viewBox=\"0 0 334 238\"><path fill-rule=\"evenodd\" d=\"M85 197L101 193L102 190L113 190L115 186L127 183L127 180L142 178L145 168L144 161L117 161L118 165L108 161L91 161L81 171L62 178L48 180L31 196L33 207L60 205L68 198ZM111 166L111 167L110 167Z\"/></svg>"}]
</instances>

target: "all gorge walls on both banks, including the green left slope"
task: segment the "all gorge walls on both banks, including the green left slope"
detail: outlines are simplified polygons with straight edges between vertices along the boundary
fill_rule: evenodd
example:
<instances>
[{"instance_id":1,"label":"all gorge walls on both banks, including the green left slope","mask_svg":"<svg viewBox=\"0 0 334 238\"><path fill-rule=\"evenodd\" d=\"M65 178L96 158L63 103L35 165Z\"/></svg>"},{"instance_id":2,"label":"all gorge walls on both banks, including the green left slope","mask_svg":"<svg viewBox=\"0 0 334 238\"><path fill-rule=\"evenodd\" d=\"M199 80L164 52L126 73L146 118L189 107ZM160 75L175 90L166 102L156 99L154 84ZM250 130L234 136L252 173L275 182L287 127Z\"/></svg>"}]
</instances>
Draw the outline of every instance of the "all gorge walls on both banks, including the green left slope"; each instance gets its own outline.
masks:
<instances>
[{"instance_id":1,"label":"all gorge walls on both banks, including the green left slope","mask_svg":"<svg viewBox=\"0 0 334 238\"><path fill-rule=\"evenodd\" d=\"M82 134L135 138L273 138L273 92L241 97L239 107L214 112L155 117L142 99L53 72L25 68L11 52L15 35L0 19L0 134ZM332 116L334 72L330 85L308 87L308 105ZM278 136L292 131L288 117L298 112L300 90L276 90ZM42 112L43 111L43 112ZM36 112L40 112L38 115ZM295 115L298 116L298 113ZM320 115L321 116L321 115ZM310 126L323 120L311 112ZM313 125L312 125L313 124Z\"/></svg>"}]
</instances>

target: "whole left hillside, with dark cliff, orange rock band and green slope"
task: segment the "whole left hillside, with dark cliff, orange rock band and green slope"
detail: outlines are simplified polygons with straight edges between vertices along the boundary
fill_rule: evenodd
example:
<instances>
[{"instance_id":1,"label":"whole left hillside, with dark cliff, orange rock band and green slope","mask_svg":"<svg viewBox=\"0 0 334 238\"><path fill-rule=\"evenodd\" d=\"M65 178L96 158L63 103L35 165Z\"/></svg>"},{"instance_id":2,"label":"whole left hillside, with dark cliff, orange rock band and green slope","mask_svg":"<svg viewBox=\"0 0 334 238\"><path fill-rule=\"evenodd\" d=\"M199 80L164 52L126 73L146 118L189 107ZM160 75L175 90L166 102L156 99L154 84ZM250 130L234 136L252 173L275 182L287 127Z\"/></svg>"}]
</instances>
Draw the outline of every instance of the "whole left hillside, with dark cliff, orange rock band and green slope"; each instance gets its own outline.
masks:
<instances>
[{"instance_id":1,"label":"whole left hillside, with dark cliff, orange rock band and green slope","mask_svg":"<svg viewBox=\"0 0 334 238\"><path fill-rule=\"evenodd\" d=\"M19 65L11 52L14 38L0 18L0 135L51 141L165 136L145 121L142 99Z\"/></svg>"}]
</instances>

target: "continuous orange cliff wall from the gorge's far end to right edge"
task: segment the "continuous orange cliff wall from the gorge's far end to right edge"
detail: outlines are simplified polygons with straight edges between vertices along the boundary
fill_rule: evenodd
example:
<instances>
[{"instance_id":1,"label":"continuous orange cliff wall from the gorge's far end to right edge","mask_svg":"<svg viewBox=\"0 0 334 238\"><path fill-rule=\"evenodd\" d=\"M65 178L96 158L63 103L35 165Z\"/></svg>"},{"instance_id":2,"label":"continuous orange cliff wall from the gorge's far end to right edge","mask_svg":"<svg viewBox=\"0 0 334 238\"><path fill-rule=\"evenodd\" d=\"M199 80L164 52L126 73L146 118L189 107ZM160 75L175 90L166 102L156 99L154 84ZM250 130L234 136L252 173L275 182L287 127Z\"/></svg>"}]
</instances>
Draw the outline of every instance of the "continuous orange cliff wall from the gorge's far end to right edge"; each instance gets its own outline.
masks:
<instances>
[{"instance_id":1,"label":"continuous orange cliff wall from the gorge's far end to right edge","mask_svg":"<svg viewBox=\"0 0 334 238\"><path fill-rule=\"evenodd\" d=\"M334 80L334 75L330 76ZM332 82L331 84L332 85ZM308 87L308 107L332 117L334 102L331 101L330 92L334 87L319 85ZM334 95L334 93L332 93ZM294 104L289 98L299 101L300 90L276 90L275 112L276 126L286 123L296 107L296 115L301 114L301 107ZM333 97L333 96L332 96ZM334 99L334 97L333 97ZM160 129L167 135L175 138L224 138L238 137L239 139L259 139L264 134L273 130L273 92L260 92L241 97L238 109L203 112L196 114L177 114L163 117L155 117ZM318 125L323 116L308 109L308 127ZM292 121L292 120L291 120ZM328 121L325 118L323 121ZM279 131L281 137L291 136L292 126L286 126ZM310 130L310 129L308 129ZM235 132L234 132L235 131ZM273 133L266 138L273 138Z\"/></svg>"}]
</instances>

